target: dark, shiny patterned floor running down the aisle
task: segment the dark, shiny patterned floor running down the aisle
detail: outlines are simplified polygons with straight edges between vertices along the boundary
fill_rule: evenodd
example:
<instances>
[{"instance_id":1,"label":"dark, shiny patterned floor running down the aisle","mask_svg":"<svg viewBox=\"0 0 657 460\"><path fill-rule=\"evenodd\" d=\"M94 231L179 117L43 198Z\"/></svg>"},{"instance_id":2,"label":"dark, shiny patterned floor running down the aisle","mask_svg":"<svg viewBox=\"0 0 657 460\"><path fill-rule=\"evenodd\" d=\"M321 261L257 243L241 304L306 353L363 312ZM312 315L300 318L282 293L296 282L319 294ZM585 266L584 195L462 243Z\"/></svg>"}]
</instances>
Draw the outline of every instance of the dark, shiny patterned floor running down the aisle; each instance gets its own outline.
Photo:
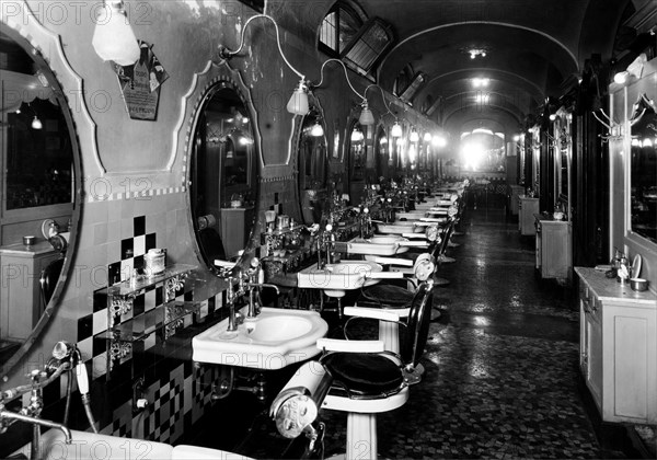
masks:
<instances>
[{"instance_id":1,"label":"dark, shiny patterned floor running down the aisle","mask_svg":"<svg viewBox=\"0 0 657 460\"><path fill-rule=\"evenodd\" d=\"M450 250L457 261L440 274L451 284L436 292L440 311L430 327L424 380L404 406L378 417L380 457L635 457L622 436L607 436L601 445L586 409L573 289L535 277L533 240L521 238L503 210L469 211L462 231L454 240L463 244ZM242 403L218 404L215 423L239 412L246 428L266 409L243 396ZM322 419L326 456L344 451L345 414L325 412ZM283 455L285 442L266 416L256 418L249 437L235 436L240 428L232 421L197 440L252 457Z\"/></svg>"}]
</instances>

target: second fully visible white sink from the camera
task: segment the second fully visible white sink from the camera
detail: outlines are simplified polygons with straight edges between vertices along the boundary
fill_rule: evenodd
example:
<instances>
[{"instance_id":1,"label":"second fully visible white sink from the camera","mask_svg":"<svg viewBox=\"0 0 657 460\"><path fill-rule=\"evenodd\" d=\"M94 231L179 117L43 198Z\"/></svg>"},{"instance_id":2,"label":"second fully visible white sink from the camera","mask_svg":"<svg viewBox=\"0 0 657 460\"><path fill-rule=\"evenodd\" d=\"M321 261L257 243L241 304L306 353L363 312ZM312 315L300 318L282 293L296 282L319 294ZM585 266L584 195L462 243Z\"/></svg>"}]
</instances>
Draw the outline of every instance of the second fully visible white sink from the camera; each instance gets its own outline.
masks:
<instances>
[{"instance_id":1,"label":"second fully visible white sink from the camera","mask_svg":"<svg viewBox=\"0 0 657 460\"><path fill-rule=\"evenodd\" d=\"M314 265L304 268L297 274L297 280L300 288L324 289L328 296L342 297L345 290L377 284L378 279L368 279L367 275L382 271L381 265L371 261L343 261L326 264L325 268Z\"/></svg>"}]
</instances>

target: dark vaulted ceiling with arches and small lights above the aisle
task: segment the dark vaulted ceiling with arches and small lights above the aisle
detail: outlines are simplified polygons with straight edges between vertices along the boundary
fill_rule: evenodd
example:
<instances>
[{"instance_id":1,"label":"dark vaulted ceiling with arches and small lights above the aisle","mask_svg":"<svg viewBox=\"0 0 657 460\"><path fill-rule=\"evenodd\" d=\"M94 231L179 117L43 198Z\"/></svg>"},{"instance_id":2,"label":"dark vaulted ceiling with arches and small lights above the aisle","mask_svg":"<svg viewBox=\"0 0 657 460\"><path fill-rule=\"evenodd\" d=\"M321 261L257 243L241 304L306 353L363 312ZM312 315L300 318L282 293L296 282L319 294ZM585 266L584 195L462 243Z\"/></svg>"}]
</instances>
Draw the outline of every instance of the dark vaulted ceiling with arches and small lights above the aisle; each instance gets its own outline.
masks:
<instances>
[{"instance_id":1,"label":"dark vaulted ceiling with arches and small lights above the aisle","mask_svg":"<svg viewBox=\"0 0 657 460\"><path fill-rule=\"evenodd\" d=\"M610 59L624 16L655 0L360 0L392 25L395 44L378 67L392 91L400 72L423 72L413 99L453 134L510 133L548 96L560 96L592 54ZM470 49L485 50L471 58ZM473 79L488 79L475 88Z\"/></svg>"}]
</instances>

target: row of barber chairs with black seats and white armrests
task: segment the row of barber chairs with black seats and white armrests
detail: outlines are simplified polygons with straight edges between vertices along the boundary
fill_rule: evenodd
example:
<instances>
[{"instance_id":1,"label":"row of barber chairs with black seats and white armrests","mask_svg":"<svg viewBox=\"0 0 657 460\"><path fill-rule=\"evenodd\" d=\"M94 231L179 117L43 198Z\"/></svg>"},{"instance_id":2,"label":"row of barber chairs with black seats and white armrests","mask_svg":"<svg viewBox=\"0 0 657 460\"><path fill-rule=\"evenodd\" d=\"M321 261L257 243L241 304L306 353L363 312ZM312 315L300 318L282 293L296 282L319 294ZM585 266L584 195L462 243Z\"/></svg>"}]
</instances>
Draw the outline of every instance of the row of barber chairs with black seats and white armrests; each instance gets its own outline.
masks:
<instances>
[{"instance_id":1,"label":"row of barber chairs with black seats and white armrests","mask_svg":"<svg viewBox=\"0 0 657 460\"><path fill-rule=\"evenodd\" d=\"M438 276L440 267L453 262L446 251L463 209L456 205L426 252L403 255L413 264L400 271L402 283L362 288L356 304L344 308L345 338L320 340L321 357L304 364L274 400L270 416L278 432L306 436L302 457L323 456L320 411L333 410L347 413L344 458L377 459L377 414L404 405L410 388L422 381L434 291L448 284ZM350 340L351 325L360 319L379 321L379 340Z\"/></svg>"}]
</instances>

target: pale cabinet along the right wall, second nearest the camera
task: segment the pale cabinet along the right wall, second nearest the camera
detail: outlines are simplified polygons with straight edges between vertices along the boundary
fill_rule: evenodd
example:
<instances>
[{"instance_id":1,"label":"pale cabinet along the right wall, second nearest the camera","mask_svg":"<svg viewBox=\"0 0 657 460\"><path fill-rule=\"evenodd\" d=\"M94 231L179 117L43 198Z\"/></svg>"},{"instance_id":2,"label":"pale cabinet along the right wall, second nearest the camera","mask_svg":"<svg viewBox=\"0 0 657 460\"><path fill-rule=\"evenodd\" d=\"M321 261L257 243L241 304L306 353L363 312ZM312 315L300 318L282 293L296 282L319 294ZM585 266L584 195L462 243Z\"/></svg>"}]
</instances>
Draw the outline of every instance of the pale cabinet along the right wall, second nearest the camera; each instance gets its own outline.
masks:
<instances>
[{"instance_id":1,"label":"pale cabinet along the right wall, second nearest the camera","mask_svg":"<svg viewBox=\"0 0 657 460\"><path fill-rule=\"evenodd\" d=\"M570 222L535 215L537 269L542 278L573 278L573 246Z\"/></svg>"}]
</instances>

